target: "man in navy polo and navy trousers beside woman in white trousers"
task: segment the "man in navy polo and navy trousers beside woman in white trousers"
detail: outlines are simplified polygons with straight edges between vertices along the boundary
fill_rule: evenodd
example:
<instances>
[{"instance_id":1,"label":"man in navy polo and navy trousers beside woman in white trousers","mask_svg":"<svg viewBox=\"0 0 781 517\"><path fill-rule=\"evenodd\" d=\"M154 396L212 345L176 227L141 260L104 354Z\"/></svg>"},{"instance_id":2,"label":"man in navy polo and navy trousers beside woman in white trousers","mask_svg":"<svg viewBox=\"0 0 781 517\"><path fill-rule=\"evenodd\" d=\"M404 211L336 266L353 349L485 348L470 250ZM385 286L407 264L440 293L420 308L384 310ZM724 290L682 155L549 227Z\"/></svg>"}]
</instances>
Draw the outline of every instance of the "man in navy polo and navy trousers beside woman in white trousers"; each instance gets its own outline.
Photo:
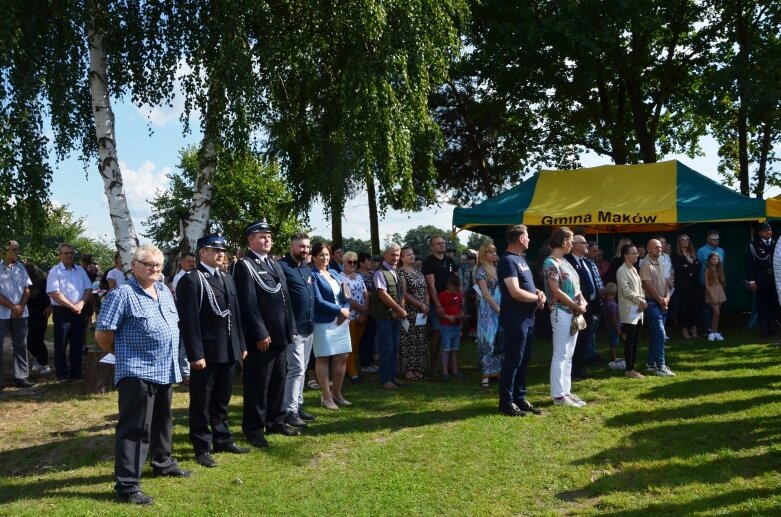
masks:
<instances>
[{"instance_id":1,"label":"man in navy polo and navy trousers beside woman in white trousers","mask_svg":"<svg viewBox=\"0 0 781 517\"><path fill-rule=\"evenodd\" d=\"M532 353L534 313L545 304L545 293L534 286L531 268L523 253L529 249L529 234L522 224L504 232L507 250L497 267L502 299L499 323L504 329L504 359L499 377L499 411L524 416L541 411L526 400L526 373Z\"/></svg>"}]
</instances>

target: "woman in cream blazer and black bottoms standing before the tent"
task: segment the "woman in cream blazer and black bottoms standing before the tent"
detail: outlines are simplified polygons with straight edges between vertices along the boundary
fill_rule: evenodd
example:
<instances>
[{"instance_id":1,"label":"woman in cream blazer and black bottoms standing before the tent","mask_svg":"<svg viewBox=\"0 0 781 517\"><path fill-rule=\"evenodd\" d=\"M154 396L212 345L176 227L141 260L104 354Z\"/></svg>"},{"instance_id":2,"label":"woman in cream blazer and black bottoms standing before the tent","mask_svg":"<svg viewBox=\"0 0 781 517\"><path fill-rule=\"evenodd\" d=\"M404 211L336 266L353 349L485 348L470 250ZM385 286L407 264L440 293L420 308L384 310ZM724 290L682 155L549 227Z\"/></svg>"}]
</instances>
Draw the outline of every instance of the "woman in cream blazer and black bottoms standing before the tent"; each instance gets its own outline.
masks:
<instances>
[{"instance_id":1,"label":"woman in cream blazer and black bottoms standing before the tent","mask_svg":"<svg viewBox=\"0 0 781 517\"><path fill-rule=\"evenodd\" d=\"M643 311L648 306L645 301L643 285L637 273L637 247L625 244L621 248L624 264L616 272L618 286L618 316L621 321L621 331L624 333L624 360L626 372L630 379L642 379L642 373L635 370L637 357L637 339L640 327L643 326Z\"/></svg>"}]
</instances>

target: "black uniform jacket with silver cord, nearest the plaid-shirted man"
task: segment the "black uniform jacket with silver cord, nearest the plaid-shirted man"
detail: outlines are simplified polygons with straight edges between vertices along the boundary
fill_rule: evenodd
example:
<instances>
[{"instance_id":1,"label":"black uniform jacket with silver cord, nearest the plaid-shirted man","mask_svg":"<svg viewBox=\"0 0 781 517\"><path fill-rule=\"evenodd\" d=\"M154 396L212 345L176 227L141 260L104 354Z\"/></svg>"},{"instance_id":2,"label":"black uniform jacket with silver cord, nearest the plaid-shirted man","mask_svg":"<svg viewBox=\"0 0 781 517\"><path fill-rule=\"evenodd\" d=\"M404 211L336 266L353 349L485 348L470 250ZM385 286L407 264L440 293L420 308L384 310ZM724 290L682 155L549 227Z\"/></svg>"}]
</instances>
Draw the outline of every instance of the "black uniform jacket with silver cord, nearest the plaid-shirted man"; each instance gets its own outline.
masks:
<instances>
[{"instance_id":1,"label":"black uniform jacket with silver cord, nearest the plaid-shirted man","mask_svg":"<svg viewBox=\"0 0 781 517\"><path fill-rule=\"evenodd\" d=\"M222 310L230 309L230 316L221 318L214 313L198 278L199 273L204 275L214 292L217 306ZM199 264L184 275L176 286L179 328L187 358L191 362L206 359L208 365L239 361L246 350L236 286L229 275L223 274L222 279L224 282Z\"/></svg>"}]
</instances>

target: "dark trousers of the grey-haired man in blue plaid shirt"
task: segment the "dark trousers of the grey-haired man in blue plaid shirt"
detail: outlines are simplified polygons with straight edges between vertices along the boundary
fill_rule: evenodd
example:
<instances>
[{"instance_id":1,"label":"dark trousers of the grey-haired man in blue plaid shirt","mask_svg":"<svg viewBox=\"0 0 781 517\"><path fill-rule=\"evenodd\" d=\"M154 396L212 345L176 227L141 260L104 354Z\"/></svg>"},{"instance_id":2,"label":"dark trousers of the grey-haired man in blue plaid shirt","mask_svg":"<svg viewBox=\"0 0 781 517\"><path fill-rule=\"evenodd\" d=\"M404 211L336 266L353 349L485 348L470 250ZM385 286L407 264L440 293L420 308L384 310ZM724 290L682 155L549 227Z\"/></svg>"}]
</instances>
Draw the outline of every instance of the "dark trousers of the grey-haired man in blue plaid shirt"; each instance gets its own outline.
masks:
<instances>
[{"instance_id":1,"label":"dark trousers of the grey-haired man in blue plaid shirt","mask_svg":"<svg viewBox=\"0 0 781 517\"><path fill-rule=\"evenodd\" d=\"M138 377L123 377L117 383L119 420L114 444L114 474L118 494L141 490L141 472L148 452L152 451L155 472L179 468L171 456L170 384L156 384Z\"/></svg>"}]
</instances>

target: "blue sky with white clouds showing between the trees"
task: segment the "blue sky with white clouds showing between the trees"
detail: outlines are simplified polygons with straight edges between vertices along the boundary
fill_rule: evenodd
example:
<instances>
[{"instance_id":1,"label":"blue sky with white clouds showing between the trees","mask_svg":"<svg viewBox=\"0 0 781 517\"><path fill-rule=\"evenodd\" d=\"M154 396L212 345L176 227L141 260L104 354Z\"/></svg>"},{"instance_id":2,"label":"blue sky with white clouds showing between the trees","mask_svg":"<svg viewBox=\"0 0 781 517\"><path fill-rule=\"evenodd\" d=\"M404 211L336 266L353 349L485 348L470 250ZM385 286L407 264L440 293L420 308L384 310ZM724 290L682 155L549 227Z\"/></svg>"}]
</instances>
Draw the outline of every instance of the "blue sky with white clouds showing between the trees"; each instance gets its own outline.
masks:
<instances>
[{"instance_id":1,"label":"blue sky with white clouds showing between the trees","mask_svg":"<svg viewBox=\"0 0 781 517\"><path fill-rule=\"evenodd\" d=\"M128 205L136 232L139 233L141 241L145 242L147 239L142 236L142 222L150 215L147 200L153 198L156 189L164 189L167 186L166 174L176 169L179 151L187 145L197 145L200 141L198 114L194 114L191 119L192 133L182 135L182 124L179 122L181 101L175 101L172 107L141 109L129 102L115 100L113 108L116 116L117 151ZM718 156L715 143L711 139L705 139L702 141L702 147L706 153L703 157L691 159L676 155L665 159L679 159L694 170L720 181L716 172ZM598 156L588 156L583 160L584 166L607 163L609 160ZM776 194L778 189L769 192L769 195ZM58 203L67 204L77 217L83 217L90 236L100 237L108 242L114 240L103 181L94 163L88 168L86 175L83 164L75 156L60 163L52 182L52 198ZM404 235L408 229L422 224L433 224L447 229L451 226L452 214L453 206L448 204L417 213L388 210L380 219L380 238L393 233ZM312 207L310 224L313 233L330 236L330 224L323 213L322 205L316 204ZM368 202L365 195L348 202L343 234L345 237L369 238ZM464 243L468 235L468 232L459 233Z\"/></svg>"}]
</instances>

